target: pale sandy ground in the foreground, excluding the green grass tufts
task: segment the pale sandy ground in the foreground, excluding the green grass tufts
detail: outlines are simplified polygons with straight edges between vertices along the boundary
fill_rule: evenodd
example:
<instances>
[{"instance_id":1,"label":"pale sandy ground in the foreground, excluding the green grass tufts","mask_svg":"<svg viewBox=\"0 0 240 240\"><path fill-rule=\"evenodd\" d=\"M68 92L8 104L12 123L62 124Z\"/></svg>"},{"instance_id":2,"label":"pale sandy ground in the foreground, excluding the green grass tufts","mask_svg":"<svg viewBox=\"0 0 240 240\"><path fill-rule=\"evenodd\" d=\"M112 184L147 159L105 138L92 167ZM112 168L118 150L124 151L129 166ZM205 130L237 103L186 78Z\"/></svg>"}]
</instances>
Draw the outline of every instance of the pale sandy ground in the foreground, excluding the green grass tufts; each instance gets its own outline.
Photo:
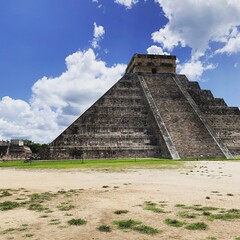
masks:
<instances>
[{"instance_id":1,"label":"pale sandy ground in the foreground, excluding the green grass tufts","mask_svg":"<svg viewBox=\"0 0 240 240\"><path fill-rule=\"evenodd\" d=\"M41 212L28 205L0 211L0 239L236 239L240 237L240 219L210 220L201 211L187 210L196 218L182 218L176 206L201 205L240 209L240 162L191 162L191 168L178 170L137 169L124 172L15 170L0 169L0 189L9 189L4 201L24 202L33 193L50 192L53 197L42 205ZM1 192L0 192L1 193ZM144 208L155 203L157 213ZM61 211L59 205L74 208ZM128 210L126 214L114 214ZM221 210L218 210L218 212ZM212 213L212 212L211 212ZM70 226L67 221L82 218L85 225ZM166 225L167 218L185 221L186 225L204 222L207 230L187 230ZM115 220L139 220L159 230L147 235L134 230L120 230ZM112 231L97 227L109 225ZM14 228L14 230L9 230Z\"/></svg>"}]
</instances>

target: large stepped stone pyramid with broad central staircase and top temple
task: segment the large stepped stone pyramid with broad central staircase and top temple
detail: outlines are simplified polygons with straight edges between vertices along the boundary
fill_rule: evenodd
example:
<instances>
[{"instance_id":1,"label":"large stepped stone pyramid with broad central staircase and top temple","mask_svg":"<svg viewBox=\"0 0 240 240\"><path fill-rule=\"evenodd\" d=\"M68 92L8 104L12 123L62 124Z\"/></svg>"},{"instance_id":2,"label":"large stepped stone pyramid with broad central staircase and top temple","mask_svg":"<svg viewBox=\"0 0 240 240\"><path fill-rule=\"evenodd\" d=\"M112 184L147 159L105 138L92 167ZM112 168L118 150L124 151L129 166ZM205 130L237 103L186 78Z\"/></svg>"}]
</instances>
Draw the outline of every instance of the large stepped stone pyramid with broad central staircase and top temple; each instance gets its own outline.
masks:
<instances>
[{"instance_id":1,"label":"large stepped stone pyramid with broad central staircase and top temple","mask_svg":"<svg viewBox=\"0 0 240 240\"><path fill-rule=\"evenodd\" d=\"M135 54L125 75L58 136L44 159L232 158L240 111L176 74L176 57Z\"/></svg>"}]
</instances>

